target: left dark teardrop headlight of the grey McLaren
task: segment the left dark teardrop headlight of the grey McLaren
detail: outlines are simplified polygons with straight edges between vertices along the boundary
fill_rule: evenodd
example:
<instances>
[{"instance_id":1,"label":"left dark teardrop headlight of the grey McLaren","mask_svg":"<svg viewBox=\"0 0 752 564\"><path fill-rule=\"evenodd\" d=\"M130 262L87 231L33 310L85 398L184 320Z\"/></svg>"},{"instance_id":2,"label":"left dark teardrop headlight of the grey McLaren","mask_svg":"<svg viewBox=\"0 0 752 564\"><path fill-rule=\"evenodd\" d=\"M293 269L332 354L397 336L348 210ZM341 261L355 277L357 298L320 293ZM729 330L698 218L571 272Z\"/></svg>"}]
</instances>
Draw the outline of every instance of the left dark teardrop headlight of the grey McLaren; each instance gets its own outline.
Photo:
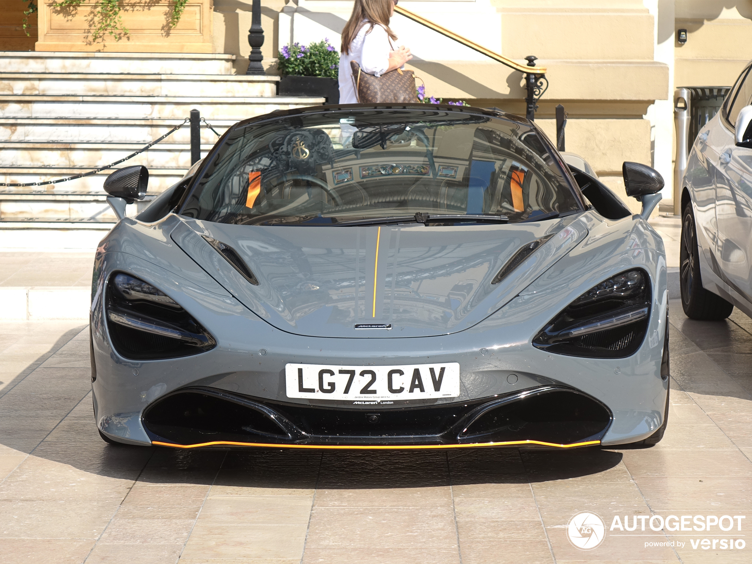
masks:
<instances>
[{"instance_id":1,"label":"left dark teardrop headlight of the grey McLaren","mask_svg":"<svg viewBox=\"0 0 752 564\"><path fill-rule=\"evenodd\" d=\"M112 344L128 359L189 356L217 345L180 304L130 274L110 277L105 311Z\"/></svg>"}]
</instances>

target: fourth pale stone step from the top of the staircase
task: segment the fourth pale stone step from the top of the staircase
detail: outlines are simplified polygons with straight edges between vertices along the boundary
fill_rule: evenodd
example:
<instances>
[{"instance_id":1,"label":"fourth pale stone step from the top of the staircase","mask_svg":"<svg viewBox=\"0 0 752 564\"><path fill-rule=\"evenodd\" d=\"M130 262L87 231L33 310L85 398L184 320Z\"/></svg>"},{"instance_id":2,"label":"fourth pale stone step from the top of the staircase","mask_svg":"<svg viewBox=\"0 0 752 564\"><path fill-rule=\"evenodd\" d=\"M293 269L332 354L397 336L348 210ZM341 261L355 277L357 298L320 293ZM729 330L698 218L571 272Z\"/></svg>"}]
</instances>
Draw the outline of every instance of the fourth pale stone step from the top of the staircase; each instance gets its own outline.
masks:
<instances>
[{"instance_id":1,"label":"fourth pale stone step from the top of the staircase","mask_svg":"<svg viewBox=\"0 0 752 564\"><path fill-rule=\"evenodd\" d=\"M203 115L202 115L203 117ZM211 126L222 135L238 120L209 120ZM183 120L120 120L120 119L74 119L0 117L0 141L26 141L33 143L141 143L147 144L162 137ZM202 144L214 144L217 133L201 123ZM190 129L184 124L165 141L190 143Z\"/></svg>"}]
</instances>

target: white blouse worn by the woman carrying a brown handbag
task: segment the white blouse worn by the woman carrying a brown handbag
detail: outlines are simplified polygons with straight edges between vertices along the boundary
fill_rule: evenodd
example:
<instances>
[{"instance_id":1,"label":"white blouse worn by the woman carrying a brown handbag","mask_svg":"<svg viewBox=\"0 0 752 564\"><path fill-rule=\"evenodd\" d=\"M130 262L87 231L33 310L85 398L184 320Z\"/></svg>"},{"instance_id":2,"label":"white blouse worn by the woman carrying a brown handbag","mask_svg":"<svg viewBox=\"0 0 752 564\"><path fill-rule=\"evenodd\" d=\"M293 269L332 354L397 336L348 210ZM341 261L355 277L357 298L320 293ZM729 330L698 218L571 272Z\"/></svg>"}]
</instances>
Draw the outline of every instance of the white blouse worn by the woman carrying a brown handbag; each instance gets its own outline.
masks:
<instances>
[{"instance_id":1,"label":"white blouse worn by the woman carrying a brown handbag","mask_svg":"<svg viewBox=\"0 0 752 564\"><path fill-rule=\"evenodd\" d=\"M362 26L350 43L350 53L339 56L339 103L357 104L358 97L353 84L353 69L350 61L355 61L368 74L380 77L389 68L389 53L393 50L387 30L378 24L368 32L370 23ZM368 33L366 33L368 32Z\"/></svg>"}]
</instances>

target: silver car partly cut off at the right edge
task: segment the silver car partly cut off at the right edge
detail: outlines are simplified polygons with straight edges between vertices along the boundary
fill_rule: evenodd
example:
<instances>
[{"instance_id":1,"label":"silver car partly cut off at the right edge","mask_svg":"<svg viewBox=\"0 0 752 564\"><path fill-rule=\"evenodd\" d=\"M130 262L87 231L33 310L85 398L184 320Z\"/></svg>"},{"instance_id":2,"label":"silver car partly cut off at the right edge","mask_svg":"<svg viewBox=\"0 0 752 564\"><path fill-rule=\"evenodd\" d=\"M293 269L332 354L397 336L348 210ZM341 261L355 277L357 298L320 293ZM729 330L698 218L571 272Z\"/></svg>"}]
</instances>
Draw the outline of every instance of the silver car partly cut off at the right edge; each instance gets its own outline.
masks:
<instances>
[{"instance_id":1,"label":"silver car partly cut off at the right edge","mask_svg":"<svg viewBox=\"0 0 752 564\"><path fill-rule=\"evenodd\" d=\"M752 75L747 65L694 142L681 193L681 302L688 317L752 316Z\"/></svg>"}]
</instances>

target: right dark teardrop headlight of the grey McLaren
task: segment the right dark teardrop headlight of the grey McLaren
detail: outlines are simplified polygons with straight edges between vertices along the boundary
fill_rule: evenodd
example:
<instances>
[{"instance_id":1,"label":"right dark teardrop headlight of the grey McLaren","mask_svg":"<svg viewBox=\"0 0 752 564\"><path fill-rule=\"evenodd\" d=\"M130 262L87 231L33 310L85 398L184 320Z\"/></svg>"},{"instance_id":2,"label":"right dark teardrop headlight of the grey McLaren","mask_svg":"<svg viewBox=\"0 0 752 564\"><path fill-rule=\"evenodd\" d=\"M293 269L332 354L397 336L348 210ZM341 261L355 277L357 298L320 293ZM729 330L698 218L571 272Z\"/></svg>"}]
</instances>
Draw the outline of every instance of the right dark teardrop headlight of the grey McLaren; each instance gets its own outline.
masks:
<instances>
[{"instance_id":1,"label":"right dark teardrop headlight of the grey McLaren","mask_svg":"<svg viewBox=\"0 0 752 564\"><path fill-rule=\"evenodd\" d=\"M635 268L612 276L550 320L532 345L569 356L630 356L647 332L650 296L645 271Z\"/></svg>"}]
</instances>

